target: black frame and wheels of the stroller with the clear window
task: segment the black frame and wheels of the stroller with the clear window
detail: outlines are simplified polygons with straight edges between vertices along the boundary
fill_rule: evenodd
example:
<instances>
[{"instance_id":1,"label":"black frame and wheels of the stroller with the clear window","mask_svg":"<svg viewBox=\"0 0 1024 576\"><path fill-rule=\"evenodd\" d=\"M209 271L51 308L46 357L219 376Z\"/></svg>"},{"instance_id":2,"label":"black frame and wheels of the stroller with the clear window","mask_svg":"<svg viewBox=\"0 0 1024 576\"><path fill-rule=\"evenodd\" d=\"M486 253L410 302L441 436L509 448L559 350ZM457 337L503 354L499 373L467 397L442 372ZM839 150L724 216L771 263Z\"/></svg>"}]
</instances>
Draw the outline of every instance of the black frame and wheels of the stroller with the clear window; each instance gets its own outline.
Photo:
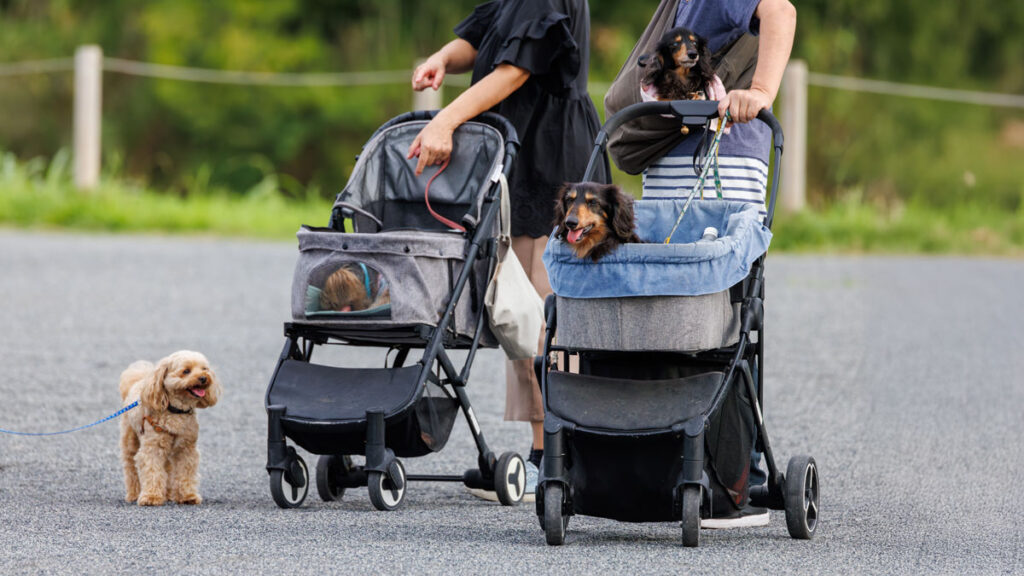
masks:
<instances>
[{"instance_id":1,"label":"black frame and wheels of the stroller with the clear window","mask_svg":"<svg viewBox=\"0 0 1024 576\"><path fill-rule=\"evenodd\" d=\"M374 134L380 134L385 129L407 122L426 121L436 114L436 111L420 111L407 113L395 117L382 125ZM503 151L503 174L506 176L512 166L512 161L518 149L515 129L504 118L485 113L471 122L486 124L502 133L505 149ZM373 138L371 138L373 140ZM479 194L484 195L479 220L472 213L462 218L466 231L465 263L462 266L451 297L443 308L436 326L418 325L399 327L397 329L368 330L364 328L349 329L344 324L325 324L314 322L290 322L285 324L286 342L278 360L273 376L266 393L266 411L268 416L267 464L270 476L270 492L274 502L285 508L302 504L308 492L311 477L305 462L296 449L289 446L288 438L296 442L305 442L303 446L310 452L319 454L315 470L315 484L319 496L325 501L341 499L346 488L367 486L370 499L374 506L381 510L392 510L398 507L406 493L409 482L462 482L467 487L495 490L502 504L518 503L523 495L525 484L525 465L521 456L515 452L506 452L497 457L484 440L476 416L473 413L466 385L469 380L470 368L481 345L494 346L495 343L484 342L485 334L489 336L484 325L485 313L480 313L475 320L475 329L471 337L460 334L455 329L457 302L463 291L470 286L474 292L474 301L478 299L482 306L482 294L475 294L475 284L470 282L474 263L480 258L489 258L487 278L495 272L497 241L493 225L497 222L500 206L500 188L497 181L488 182L488 189ZM329 229L333 232L345 232L344 220L353 217L353 209L343 202L336 203L332 211ZM493 339L493 338L492 338ZM310 364L313 349L317 345L340 343L353 346L382 346L389 349L385 357L385 368L351 369L315 366ZM414 365L407 367L406 361L410 352L422 348L422 358ZM468 351L461 367L456 366L449 349ZM390 366L387 359L396 352ZM470 433L478 451L477 467L463 475L406 475L404 467L396 455L392 440L411 424L410 418L416 418L414 406L422 396L413 394L401 406L385 409L369 405L364 415L346 420L330 420L328 422L310 421L307 418L292 417L289 407L271 402L271 389L275 383L286 381L329 380L332 385L369 382L369 385L385 385L395 378L415 379L415 388L422 390L427 382L440 386L446 395L454 397L469 424ZM317 426L330 426L333 430L343 430L346 440L338 444L319 442L315 438ZM449 427L451 429L451 427ZM337 436L337 434L335 434ZM446 436L444 437L446 441ZM300 440L302 441L300 442ZM407 452L409 448L404 449ZM414 451L415 452L415 451ZM365 465L354 465L350 455L365 454ZM415 452L412 455L420 455ZM400 454L399 454L400 455Z\"/></svg>"}]
</instances>

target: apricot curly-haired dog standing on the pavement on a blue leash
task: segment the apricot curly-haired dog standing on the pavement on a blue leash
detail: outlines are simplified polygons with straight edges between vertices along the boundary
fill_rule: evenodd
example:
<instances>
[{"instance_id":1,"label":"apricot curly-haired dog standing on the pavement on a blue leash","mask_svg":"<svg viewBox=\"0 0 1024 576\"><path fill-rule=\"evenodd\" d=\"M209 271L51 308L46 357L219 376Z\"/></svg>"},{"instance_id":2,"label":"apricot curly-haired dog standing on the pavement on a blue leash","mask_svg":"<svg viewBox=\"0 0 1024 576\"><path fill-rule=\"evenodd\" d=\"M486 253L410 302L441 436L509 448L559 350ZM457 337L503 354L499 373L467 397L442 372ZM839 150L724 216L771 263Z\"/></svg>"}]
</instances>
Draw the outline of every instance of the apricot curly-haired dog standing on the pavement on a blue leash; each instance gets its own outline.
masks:
<instances>
[{"instance_id":1,"label":"apricot curly-haired dog standing on the pavement on a blue leash","mask_svg":"<svg viewBox=\"0 0 1024 576\"><path fill-rule=\"evenodd\" d=\"M157 363L139 361L121 373L125 500L160 506L168 500L199 504L199 422L196 410L220 397L220 382L206 357L180 351Z\"/></svg>"}]
</instances>

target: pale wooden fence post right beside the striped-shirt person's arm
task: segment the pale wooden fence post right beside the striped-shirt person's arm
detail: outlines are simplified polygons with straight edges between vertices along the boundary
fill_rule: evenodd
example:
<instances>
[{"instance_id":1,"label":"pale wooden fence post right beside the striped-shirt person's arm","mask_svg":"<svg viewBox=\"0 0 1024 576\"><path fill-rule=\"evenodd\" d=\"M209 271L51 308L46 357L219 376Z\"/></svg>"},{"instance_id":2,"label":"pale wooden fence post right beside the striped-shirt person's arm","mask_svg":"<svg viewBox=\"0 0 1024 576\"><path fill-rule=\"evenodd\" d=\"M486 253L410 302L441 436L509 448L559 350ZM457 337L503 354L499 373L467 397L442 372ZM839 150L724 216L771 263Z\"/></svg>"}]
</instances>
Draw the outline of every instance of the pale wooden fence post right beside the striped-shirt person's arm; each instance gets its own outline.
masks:
<instances>
[{"instance_id":1,"label":"pale wooden fence post right beside the striped-shirt person's arm","mask_svg":"<svg viewBox=\"0 0 1024 576\"><path fill-rule=\"evenodd\" d=\"M779 208L797 212L807 205L807 63L791 60L782 75L782 182Z\"/></svg>"}]
</instances>

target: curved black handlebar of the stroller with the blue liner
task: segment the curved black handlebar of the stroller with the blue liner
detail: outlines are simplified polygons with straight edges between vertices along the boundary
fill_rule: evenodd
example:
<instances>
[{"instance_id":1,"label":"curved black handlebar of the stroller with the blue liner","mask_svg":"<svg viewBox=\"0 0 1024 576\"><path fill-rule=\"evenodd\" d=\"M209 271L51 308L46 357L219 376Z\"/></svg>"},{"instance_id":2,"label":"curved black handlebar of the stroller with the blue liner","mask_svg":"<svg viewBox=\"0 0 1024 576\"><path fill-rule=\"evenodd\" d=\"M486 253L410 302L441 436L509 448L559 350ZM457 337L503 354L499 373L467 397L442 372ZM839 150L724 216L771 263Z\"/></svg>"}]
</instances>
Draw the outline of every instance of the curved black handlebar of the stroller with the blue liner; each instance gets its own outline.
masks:
<instances>
[{"instance_id":1,"label":"curved black handlebar of the stroller with the blue liner","mask_svg":"<svg viewBox=\"0 0 1024 576\"><path fill-rule=\"evenodd\" d=\"M594 177L597 169L598 159L604 154L608 146L608 135L621 128L623 124L632 122L645 116L672 116L679 120L680 125L702 126L709 120L718 118L717 100L667 100L639 102L630 105L616 114L612 115L597 133L594 138L594 151L591 153L590 162L587 163L587 170L584 171L583 180L587 181ZM772 170L771 189L769 192L768 215L765 217L765 225L771 228L772 219L775 215L775 199L778 196L779 169L782 159L782 126L767 109L758 113L758 120L764 122L771 128L772 148L775 151L774 169Z\"/></svg>"}]
</instances>

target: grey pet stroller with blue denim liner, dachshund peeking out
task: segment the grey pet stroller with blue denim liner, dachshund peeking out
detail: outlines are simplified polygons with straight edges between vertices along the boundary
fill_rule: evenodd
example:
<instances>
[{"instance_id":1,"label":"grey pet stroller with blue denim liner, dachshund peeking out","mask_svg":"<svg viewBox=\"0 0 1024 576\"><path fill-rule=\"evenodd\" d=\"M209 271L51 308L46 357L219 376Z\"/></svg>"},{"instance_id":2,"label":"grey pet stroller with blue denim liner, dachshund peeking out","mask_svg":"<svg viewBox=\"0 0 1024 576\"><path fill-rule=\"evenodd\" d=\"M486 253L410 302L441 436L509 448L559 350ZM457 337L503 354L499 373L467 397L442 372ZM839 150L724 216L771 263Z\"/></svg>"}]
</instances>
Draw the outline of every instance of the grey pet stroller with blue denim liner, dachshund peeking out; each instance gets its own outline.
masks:
<instances>
[{"instance_id":1,"label":"grey pet stroller with blue denim liner, dachshund peeking out","mask_svg":"<svg viewBox=\"0 0 1024 576\"><path fill-rule=\"evenodd\" d=\"M702 126L715 101L644 102L610 118L669 115ZM637 233L598 262L575 258L555 237L545 253L554 294L545 354L535 367L545 405L537 515L549 544L561 544L572 515L628 522L681 521L682 543L699 543L702 518L735 516L748 503L784 509L794 538L817 527L814 459L797 456L783 475L761 406L764 390L764 253L778 193L781 128L772 129L774 171L764 224L756 205L694 202L672 244L664 239L683 200L636 202ZM588 168L584 179L590 177ZM722 231L700 240L706 227ZM569 360L579 371L569 371ZM764 453L767 483L750 488L751 449Z\"/></svg>"}]
</instances>

